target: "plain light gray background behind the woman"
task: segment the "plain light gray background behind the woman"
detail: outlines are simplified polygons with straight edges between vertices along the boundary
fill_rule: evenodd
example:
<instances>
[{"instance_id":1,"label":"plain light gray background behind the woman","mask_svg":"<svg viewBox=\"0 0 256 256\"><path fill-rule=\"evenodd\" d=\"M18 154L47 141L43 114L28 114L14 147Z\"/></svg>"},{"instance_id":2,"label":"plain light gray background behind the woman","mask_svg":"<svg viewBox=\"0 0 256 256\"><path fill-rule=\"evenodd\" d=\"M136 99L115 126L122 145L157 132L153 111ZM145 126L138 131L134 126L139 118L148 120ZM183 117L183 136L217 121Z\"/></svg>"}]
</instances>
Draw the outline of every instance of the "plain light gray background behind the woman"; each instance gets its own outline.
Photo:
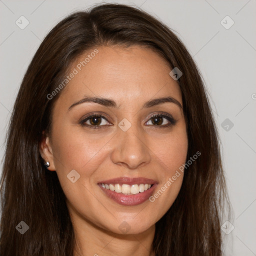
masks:
<instances>
[{"instance_id":1,"label":"plain light gray background behind the woman","mask_svg":"<svg viewBox=\"0 0 256 256\"><path fill-rule=\"evenodd\" d=\"M225 255L256 255L256 0L118 2L141 6L174 29L197 63L219 130L233 207L229 221L234 229L229 234L223 232ZM100 1L0 0L1 159L14 99L40 42L65 15L95 3ZM15 24L21 15L29 21L24 29ZM229 29L221 24L226 15L234 21ZM228 18L222 22L231 24ZM229 120L224 121L226 118Z\"/></svg>"}]
</instances>

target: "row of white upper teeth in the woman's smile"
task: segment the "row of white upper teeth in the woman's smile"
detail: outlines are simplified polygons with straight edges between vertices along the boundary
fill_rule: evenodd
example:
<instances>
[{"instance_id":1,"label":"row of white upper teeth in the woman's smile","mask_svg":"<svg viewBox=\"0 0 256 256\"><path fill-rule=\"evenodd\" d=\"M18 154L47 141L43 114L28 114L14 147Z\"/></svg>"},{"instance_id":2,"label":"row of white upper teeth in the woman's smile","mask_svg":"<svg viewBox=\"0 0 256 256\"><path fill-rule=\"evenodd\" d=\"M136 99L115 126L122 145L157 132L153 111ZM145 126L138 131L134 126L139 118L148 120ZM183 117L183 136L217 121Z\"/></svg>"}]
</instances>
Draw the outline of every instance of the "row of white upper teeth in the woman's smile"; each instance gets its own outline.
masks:
<instances>
[{"instance_id":1,"label":"row of white upper teeth in the woman's smile","mask_svg":"<svg viewBox=\"0 0 256 256\"><path fill-rule=\"evenodd\" d=\"M151 187L151 184L105 184L101 183L101 186L110 189L111 191L115 191L116 193L123 193L123 194L138 194L142 193L145 190L149 189Z\"/></svg>"}]
</instances>

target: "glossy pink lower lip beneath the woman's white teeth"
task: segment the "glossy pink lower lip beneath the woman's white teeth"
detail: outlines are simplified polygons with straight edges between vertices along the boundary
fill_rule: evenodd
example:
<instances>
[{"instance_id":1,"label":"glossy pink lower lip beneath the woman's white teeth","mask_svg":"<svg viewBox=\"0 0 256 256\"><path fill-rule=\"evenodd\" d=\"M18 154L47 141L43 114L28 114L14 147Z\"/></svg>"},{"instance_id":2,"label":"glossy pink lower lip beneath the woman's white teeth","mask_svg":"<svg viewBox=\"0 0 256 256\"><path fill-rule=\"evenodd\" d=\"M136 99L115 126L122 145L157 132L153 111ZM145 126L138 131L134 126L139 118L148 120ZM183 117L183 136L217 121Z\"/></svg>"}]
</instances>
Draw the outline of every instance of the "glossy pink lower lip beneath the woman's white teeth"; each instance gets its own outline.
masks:
<instances>
[{"instance_id":1,"label":"glossy pink lower lip beneath the woman's white teeth","mask_svg":"<svg viewBox=\"0 0 256 256\"><path fill-rule=\"evenodd\" d=\"M121 205L127 205L127 206L138 205L146 201L153 193L155 186L156 184L153 184L149 189L145 190L142 193L125 195L123 193L116 193L115 191L111 191L110 189L106 189L101 185L99 185L99 187L108 197L110 197L115 202Z\"/></svg>"}]
</instances>

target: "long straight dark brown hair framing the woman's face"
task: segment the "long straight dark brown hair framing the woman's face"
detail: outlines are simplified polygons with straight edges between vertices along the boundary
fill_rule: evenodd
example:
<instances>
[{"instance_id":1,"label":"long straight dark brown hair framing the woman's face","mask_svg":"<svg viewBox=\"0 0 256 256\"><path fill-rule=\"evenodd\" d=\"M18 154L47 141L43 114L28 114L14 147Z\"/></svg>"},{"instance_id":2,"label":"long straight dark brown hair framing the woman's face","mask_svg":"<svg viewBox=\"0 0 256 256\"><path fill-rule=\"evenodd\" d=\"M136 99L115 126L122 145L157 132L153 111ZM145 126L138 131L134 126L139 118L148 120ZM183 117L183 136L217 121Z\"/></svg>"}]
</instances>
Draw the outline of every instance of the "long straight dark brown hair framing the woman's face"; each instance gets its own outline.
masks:
<instances>
[{"instance_id":1,"label":"long straight dark brown hair framing the woman's face","mask_svg":"<svg viewBox=\"0 0 256 256\"><path fill-rule=\"evenodd\" d=\"M187 160L180 192L156 223L155 255L220 256L220 213L225 180L213 115L200 73L183 43L163 23L137 8L100 4L60 21L44 38L23 77L7 133L1 176L0 255L71 256L75 239L56 172L43 166L38 143L50 132L51 109L61 91L47 95L63 80L70 64L102 45L144 45L157 51L182 76L187 124ZM170 69L171 70L171 69ZM16 225L29 229L20 234Z\"/></svg>"}]
</instances>

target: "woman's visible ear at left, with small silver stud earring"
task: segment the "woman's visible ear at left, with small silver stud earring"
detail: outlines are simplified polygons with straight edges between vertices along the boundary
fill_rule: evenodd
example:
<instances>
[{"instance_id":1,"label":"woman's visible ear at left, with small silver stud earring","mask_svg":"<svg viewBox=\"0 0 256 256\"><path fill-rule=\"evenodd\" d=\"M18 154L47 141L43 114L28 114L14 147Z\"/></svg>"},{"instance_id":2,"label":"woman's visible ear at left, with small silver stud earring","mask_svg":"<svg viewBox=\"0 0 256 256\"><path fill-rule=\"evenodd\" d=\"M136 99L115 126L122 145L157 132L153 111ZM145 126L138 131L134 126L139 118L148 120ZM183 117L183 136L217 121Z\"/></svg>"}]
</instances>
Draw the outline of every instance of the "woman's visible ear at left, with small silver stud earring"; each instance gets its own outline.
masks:
<instances>
[{"instance_id":1,"label":"woman's visible ear at left, with small silver stud earring","mask_svg":"<svg viewBox=\"0 0 256 256\"><path fill-rule=\"evenodd\" d=\"M39 143L39 152L42 157L42 159L46 162L49 162L49 167L47 167L48 170L55 170L55 165L53 161L53 154L52 154L52 148L50 145L50 139L45 133L43 132L41 141Z\"/></svg>"}]
</instances>

